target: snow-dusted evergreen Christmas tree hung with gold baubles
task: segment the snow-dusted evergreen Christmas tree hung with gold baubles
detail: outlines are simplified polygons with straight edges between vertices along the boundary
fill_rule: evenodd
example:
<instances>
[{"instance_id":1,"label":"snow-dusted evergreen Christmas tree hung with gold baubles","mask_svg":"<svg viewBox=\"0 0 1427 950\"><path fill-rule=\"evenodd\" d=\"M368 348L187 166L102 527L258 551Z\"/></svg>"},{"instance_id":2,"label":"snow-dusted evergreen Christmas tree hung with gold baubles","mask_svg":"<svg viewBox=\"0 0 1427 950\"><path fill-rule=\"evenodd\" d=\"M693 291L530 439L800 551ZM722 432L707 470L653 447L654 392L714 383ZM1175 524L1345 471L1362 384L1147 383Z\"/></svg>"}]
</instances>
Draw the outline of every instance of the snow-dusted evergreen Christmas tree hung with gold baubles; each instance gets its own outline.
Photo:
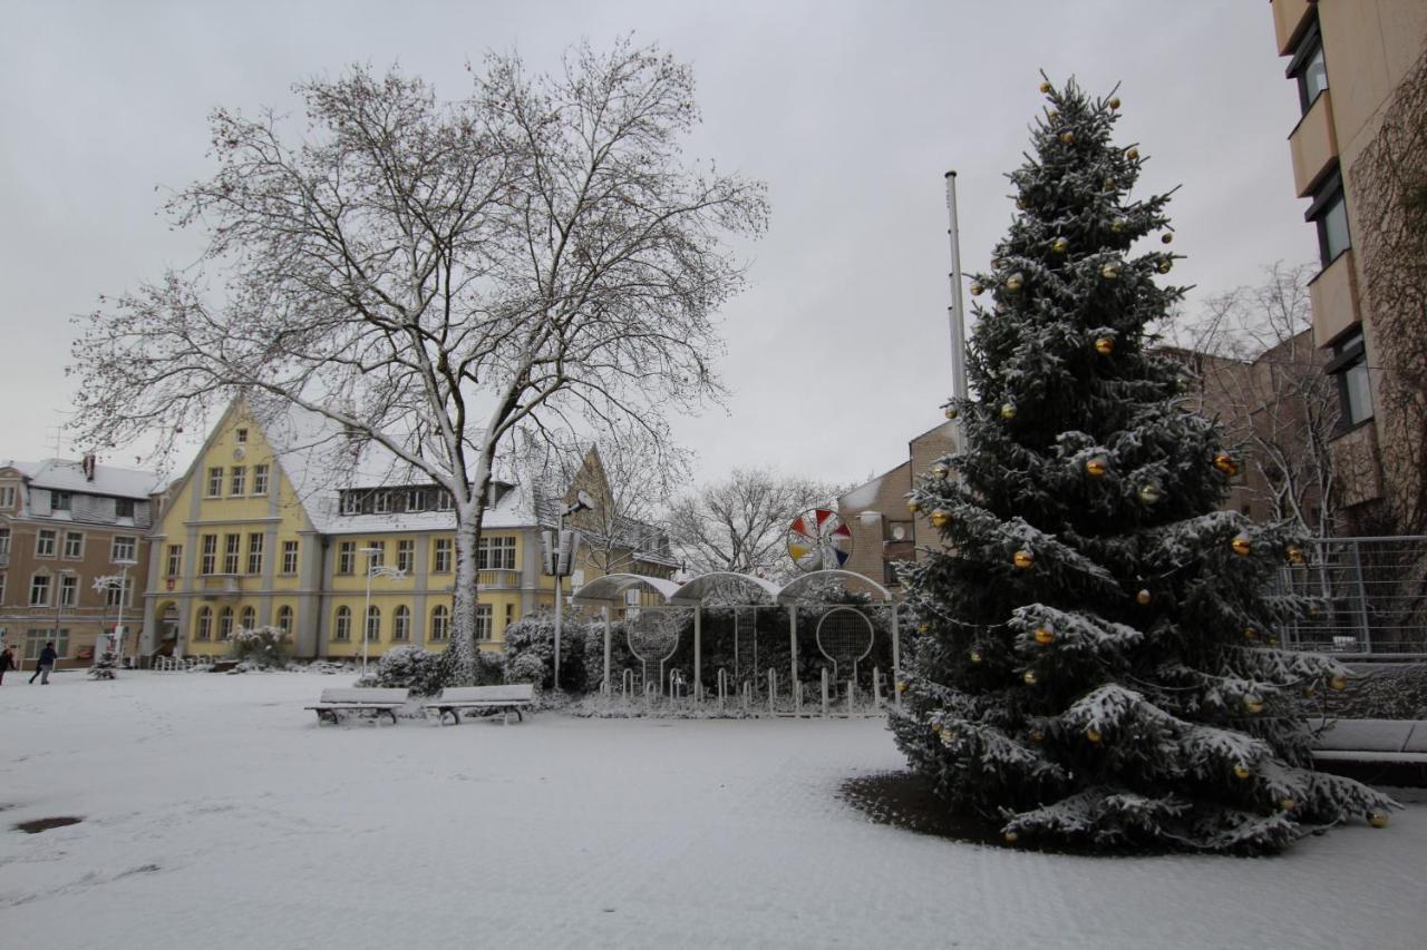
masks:
<instances>
[{"instance_id":1,"label":"snow-dusted evergreen Christmas tree hung with gold baubles","mask_svg":"<svg viewBox=\"0 0 1427 950\"><path fill-rule=\"evenodd\" d=\"M893 729L950 807L1007 842L1271 852L1393 802L1316 772L1301 698L1334 660L1279 649L1311 611L1273 593L1287 525L1216 511L1237 471L1147 327L1183 288L1169 195L1112 141L1117 98L1042 86L1017 214L975 277L965 452L909 505L918 632Z\"/></svg>"}]
</instances>

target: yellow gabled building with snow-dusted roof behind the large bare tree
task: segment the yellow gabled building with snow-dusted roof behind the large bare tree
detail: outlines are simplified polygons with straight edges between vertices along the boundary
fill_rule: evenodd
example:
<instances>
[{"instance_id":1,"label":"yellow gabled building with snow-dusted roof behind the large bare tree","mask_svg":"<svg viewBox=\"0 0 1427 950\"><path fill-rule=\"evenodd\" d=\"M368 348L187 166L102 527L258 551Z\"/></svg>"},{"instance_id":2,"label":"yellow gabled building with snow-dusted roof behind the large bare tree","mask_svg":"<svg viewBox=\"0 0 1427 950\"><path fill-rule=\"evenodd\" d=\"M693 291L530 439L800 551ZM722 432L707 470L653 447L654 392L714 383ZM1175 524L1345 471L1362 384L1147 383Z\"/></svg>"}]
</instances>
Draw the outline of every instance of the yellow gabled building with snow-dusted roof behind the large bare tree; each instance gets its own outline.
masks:
<instances>
[{"instance_id":1,"label":"yellow gabled building with snow-dusted roof behind the large bare tree","mask_svg":"<svg viewBox=\"0 0 1427 950\"><path fill-rule=\"evenodd\" d=\"M552 606L541 531L577 491L596 504L612 496L594 451L565 485L539 471L492 485L477 552L482 648L499 649L507 626ZM672 573L666 546L649 546L629 561ZM170 486L148 576L146 653L227 656L233 632L255 626L287 632L300 659L361 656L364 635L370 658L400 645L444 649L455 515L444 489L325 417L287 409L260 421L237 401ZM594 576L577 561L567 593Z\"/></svg>"}]
</instances>

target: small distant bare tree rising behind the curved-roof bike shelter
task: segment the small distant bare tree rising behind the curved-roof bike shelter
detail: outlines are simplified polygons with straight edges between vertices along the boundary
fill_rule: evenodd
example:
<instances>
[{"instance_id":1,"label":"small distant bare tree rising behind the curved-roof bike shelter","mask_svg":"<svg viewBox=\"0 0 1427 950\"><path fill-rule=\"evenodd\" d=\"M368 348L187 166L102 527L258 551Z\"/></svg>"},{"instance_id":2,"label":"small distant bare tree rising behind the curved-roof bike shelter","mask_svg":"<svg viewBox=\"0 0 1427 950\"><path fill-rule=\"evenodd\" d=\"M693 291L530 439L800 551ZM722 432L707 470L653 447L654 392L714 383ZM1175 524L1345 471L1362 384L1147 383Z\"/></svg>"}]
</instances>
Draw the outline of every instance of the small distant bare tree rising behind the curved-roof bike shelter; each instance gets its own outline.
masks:
<instances>
[{"instance_id":1,"label":"small distant bare tree rising behind the curved-roof bike shelter","mask_svg":"<svg viewBox=\"0 0 1427 950\"><path fill-rule=\"evenodd\" d=\"M669 536L691 571L788 579L792 559L785 545L793 518L839 494L833 485L768 469L733 469L728 479L674 502Z\"/></svg>"}]
</instances>

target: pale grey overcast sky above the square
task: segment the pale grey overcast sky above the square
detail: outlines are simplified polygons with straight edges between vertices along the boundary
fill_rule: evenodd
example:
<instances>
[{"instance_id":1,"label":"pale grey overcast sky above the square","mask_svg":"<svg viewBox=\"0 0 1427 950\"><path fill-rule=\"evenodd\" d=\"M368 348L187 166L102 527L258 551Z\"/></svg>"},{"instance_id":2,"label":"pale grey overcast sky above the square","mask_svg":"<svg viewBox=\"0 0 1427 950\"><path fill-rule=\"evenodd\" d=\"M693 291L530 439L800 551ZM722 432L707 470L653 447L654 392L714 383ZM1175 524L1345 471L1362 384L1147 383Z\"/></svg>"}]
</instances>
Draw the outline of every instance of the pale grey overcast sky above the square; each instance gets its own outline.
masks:
<instances>
[{"instance_id":1,"label":"pale grey overcast sky above the square","mask_svg":"<svg viewBox=\"0 0 1427 950\"><path fill-rule=\"evenodd\" d=\"M534 67L621 33L691 61L691 154L769 184L772 227L722 314L726 411L681 419L698 476L735 465L862 481L906 458L950 391L943 174L963 267L986 265L1040 108L1037 70L1120 83L1140 188L1183 185L1174 271L1207 295L1314 254L1293 197L1297 94L1264 0L925 3L126 3L9 0L0 31L0 458L54 454L74 385L71 317L197 257L157 215L211 173L214 106L295 108L290 86L400 63L438 94L467 60ZM83 446L63 445L64 455ZM104 461L133 465L133 451Z\"/></svg>"}]
</instances>

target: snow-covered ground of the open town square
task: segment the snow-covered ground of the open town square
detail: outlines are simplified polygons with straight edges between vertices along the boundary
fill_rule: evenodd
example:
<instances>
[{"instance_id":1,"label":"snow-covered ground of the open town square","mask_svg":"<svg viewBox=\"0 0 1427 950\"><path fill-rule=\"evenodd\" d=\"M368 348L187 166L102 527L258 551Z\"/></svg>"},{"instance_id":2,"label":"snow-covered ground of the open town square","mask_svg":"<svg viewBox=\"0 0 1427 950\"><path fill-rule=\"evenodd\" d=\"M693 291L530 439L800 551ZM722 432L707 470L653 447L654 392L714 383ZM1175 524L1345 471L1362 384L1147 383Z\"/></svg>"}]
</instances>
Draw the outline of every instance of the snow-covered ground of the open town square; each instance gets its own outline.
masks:
<instances>
[{"instance_id":1,"label":"snow-covered ground of the open town square","mask_svg":"<svg viewBox=\"0 0 1427 950\"><path fill-rule=\"evenodd\" d=\"M0 946L1427 944L1423 805L1277 859L1045 856L841 803L902 765L878 720L320 727L334 685L11 673Z\"/></svg>"}]
</instances>

